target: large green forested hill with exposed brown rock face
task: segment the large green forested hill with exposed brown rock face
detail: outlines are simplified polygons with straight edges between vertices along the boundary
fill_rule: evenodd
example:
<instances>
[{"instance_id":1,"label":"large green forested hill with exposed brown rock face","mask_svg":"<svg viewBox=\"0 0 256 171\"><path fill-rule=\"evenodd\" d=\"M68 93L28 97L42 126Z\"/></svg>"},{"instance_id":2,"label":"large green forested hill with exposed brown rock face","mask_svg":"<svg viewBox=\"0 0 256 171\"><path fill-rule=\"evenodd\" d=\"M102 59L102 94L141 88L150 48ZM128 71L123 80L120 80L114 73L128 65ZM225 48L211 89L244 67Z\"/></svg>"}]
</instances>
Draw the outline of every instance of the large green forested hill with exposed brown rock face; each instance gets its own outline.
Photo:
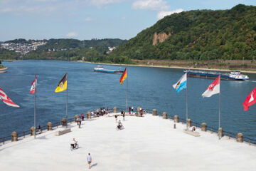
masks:
<instances>
[{"instance_id":1,"label":"large green forested hill with exposed brown rock face","mask_svg":"<svg viewBox=\"0 0 256 171\"><path fill-rule=\"evenodd\" d=\"M172 14L110 53L132 59L247 59L256 57L256 6Z\"/></svg>"}]
</instances>

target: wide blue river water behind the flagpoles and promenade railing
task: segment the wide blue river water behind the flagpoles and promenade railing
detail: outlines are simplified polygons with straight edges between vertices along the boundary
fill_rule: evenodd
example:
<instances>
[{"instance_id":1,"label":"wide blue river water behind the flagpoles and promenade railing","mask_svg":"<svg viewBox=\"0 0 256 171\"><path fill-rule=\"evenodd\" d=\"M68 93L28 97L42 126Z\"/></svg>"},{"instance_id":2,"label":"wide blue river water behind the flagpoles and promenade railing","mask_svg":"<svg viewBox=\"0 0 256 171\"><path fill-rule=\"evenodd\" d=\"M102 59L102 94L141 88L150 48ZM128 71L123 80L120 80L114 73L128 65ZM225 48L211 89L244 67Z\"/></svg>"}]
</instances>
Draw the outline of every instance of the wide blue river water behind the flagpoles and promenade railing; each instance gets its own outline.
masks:
<instances>
[{"instance_id":1,"label":"wide blue river water behind the flagpoles and promenade railing","mask_svg":"<svg viewBox=\"0 0 256 171\"><path fill-rule=\"evenodd\" d=\"M0 73L0 88L21 107L12 108L0 102L0 138L11 135L13 131L29 130L33 126L34 96L29 91L35 73L38 76L37 125L55 123L65 118L66 92L54 92L65 73L68 73L68 118L96 108L126 108L127 81L129 106L156 108L161 113L186 118L186 90L176 93L172 87L183 75L182 69L129 66L128 78L120 85L121 75L96 73L93 68L97 65L91 63L15 61L3 64L9 69L7 73ZM121 68L123 70L124 66ZM225 131L241 132L245 137L256 139L256 105L246 112L242 107L243 101L256 85L256 75L247 75L250 81L221 81L220 125ZM201 96L211 82L213 80L188 78L188 118L218 128L219 95L210 98Z\"/></svg>"}]
</instances>

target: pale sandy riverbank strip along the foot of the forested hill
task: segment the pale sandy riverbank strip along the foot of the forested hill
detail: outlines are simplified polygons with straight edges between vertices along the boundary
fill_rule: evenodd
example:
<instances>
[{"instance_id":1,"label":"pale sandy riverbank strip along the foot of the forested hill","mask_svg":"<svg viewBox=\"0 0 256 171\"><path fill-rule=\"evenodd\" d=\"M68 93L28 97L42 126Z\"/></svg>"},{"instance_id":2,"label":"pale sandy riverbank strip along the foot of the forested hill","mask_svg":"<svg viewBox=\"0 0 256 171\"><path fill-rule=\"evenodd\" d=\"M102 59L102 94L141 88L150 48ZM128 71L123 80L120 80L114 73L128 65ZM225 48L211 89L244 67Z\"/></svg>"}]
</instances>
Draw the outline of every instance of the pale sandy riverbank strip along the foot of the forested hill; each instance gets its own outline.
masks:
<instances>
[{"instance_id":1,"label":"pale sandy riverbank strip along the foot of the forested hill","mask_svg":"<svg viewBox=\"0 0 256 171\"><path fill-rule=\"evenodd\" d=\"M85 62L85 63L93 63L89 61L78 61L78 62ZM179 63L183 61L178 61ZM234 69L223 69L223 68L206 68L206 67L189 67L189 66L166 66L166 65L158 65L158 64L120 64L120 63L94 63L94 64L99 64L99 65L112 65L112 66L141 66L141 67L153 67L153 68L176 68L176 69L193 69L193 70L204 70L204 71L223 71L223 72L230 72L234 71ZM239 68L238 69L242 73L256 73L255 71L247 71L247 70L242 70Z\"/></svg>"}]
</instances>

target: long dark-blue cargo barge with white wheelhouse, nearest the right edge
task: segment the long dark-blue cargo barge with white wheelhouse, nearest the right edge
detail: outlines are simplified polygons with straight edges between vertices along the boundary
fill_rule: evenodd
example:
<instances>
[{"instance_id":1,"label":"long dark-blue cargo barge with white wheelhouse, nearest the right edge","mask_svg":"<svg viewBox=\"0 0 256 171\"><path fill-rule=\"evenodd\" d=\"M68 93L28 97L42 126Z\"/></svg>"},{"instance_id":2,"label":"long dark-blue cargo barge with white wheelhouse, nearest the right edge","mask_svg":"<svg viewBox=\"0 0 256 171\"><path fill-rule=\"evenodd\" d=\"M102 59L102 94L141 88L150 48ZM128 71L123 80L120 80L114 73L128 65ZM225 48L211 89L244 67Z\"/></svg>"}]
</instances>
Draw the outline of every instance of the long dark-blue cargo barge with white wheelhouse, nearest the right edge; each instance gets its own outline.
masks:
<instances>
[{"instance_id":1,"label":"long dark-blue cargo barge with white wheelhouse, nearest the right edge","mask_svg":"<svg viewBox=\"0 0 256 171\"><path fill-rule=\"evenodd\" d=\"M199 71L199 70L186 70L183 71L188 74L188 77L196 78L217 78L220 76L221 80L230 81L246 81L249 77L240 73L240 71L232 71L230 73L217 73L213 71Z\"/></svg>"}]
</instances>

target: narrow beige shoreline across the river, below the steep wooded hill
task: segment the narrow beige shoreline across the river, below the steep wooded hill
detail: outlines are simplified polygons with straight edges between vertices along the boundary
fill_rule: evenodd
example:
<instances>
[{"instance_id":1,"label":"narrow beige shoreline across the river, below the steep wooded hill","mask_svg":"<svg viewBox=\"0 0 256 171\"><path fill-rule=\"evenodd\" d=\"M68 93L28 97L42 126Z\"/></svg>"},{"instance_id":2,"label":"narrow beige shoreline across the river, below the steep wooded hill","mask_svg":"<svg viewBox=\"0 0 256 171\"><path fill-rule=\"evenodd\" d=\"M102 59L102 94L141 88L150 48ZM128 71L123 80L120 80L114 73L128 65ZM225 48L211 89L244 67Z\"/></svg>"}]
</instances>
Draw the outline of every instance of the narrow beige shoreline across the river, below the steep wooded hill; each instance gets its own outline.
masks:
<instances>
[{"instance_id":1,"label":"narrow beige shoreline across the river, below the steep wooded hill","mask_svg":"<svg viewBox=\"0 0 256 171\"><path fill-rule=\"evenodd\" d=\"M83 63L93 63L87 61L78 61ZM111 66L142 66L142 67L153 67L153 68L175 68L175 69L193 69L193 70L205 70L205 71L224 71L230 72L228 69L219 69L219 68L193 68L193 67L180 67L180 66L146 66L146 65L137 65L137 64L118 64L118 63L94 63L99 65L111 65ZM239 70L241 73L256 73L256 71L243 71Z\"/></svg>"}]
</instances>

